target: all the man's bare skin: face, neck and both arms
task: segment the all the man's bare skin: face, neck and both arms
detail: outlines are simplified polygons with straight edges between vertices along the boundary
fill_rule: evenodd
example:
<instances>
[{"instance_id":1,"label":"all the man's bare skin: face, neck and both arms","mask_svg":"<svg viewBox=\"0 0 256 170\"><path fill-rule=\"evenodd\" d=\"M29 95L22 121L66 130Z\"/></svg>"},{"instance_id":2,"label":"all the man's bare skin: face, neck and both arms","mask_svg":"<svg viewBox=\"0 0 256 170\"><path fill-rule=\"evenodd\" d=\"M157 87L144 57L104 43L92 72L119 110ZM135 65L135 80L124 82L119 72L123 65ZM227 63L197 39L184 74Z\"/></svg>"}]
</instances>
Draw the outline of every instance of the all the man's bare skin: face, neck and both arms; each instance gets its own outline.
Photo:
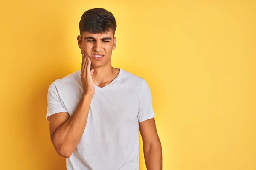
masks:
<instances>
[{"instance_id":1,"label":"all the man's bare skin: face, neck and both arms","mask_svg":"<svg viewBox=\"0 0 256 170\"><path fill-rule=\"evenodd\" d=\"M95 93L94 85L104 87L119 73L119 69L111 66L112 51L116 48L116 37L113 37L112 31L103 34L84 32L82 37L78 35L77 40L82 54L81 80L84 93L71 117L67 112L50 116L52 144L57 153L65 158L71 156L84 132L90 103ZM98 60L92 57L93 53L105 56ZM139 130L143 139L147 170L162 170L162 147L155 119L139 122Z\"/></svg>"}]
</instances>

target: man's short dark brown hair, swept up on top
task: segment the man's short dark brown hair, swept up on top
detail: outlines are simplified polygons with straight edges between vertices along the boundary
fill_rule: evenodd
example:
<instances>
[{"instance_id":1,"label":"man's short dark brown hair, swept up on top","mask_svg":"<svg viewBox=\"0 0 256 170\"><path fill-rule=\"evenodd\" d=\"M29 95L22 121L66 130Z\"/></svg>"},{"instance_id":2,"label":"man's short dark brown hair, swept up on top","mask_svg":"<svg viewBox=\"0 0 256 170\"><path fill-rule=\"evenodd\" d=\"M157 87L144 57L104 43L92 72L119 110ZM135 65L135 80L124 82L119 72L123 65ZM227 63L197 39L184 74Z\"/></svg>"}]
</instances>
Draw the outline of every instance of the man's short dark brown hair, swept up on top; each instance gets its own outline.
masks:
<instances>
[{"instance_id":1,"label":"man's short dark brown hair, swept up on top","mask_svg":"<svg viewBox=\"0 0 256 170\"><path fill-rule=\"evenodd\" d=\"M108 31L116 32L116 19L113 14L103 8L94 8L85 11L79 22L80 36L84 31L92 34L102 34Z\"/></svg>"}]
</instances>

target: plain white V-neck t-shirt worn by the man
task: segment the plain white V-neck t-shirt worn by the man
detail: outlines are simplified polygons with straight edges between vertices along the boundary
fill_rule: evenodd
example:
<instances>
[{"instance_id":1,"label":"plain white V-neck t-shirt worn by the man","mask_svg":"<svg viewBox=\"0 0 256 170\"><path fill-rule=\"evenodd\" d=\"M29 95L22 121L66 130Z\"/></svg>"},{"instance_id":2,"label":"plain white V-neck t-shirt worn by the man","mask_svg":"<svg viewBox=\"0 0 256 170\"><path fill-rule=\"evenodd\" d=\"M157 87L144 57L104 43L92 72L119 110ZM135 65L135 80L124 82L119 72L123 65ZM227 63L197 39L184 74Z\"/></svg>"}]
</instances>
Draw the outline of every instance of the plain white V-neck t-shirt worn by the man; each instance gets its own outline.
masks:
<instances>
[{"instance_id":1,"label":"plain white V-neck t-shirt worn by the man","mask_svg":"<svg viewBox=\"0 0 256 170\"><path fill-rule=\"evenodd\" d=\"M95 85L87 124L67 170L139 170L139 125L154 117L151 90L145 79L119 68L103 88ZM72 116L83 94L81 70L49 86L47 114Z\"/></svg>"}]
</instances>

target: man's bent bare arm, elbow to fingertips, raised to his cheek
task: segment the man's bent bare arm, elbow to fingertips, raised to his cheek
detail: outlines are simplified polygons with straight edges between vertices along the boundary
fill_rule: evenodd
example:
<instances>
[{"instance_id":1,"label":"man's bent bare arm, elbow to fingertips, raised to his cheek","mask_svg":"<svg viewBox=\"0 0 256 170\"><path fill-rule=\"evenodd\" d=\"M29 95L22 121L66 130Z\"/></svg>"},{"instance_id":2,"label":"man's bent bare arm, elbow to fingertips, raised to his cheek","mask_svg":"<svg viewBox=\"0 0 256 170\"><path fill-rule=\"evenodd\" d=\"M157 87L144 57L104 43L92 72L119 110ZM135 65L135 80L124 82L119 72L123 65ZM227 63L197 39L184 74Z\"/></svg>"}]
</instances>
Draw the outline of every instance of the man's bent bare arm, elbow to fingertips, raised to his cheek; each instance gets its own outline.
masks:
<instances>
[{"instance_id":1,"label":"man's bent bare arm, elbow to fingertips, raised to his cheek","mask_svg":"<svg viewBox=\"0 0 256 170\"><path fill-rule=\"evenodd\" d=\"M94 82L90 70L90 59L83 53L81 80L84 94L81 96L72 116L67 112L59 112L50 116L50 134L52 144L60 156L69 158L78 145L84 133L90 110L90 103L94 95Z\"/></svg>"}]
</instances>

